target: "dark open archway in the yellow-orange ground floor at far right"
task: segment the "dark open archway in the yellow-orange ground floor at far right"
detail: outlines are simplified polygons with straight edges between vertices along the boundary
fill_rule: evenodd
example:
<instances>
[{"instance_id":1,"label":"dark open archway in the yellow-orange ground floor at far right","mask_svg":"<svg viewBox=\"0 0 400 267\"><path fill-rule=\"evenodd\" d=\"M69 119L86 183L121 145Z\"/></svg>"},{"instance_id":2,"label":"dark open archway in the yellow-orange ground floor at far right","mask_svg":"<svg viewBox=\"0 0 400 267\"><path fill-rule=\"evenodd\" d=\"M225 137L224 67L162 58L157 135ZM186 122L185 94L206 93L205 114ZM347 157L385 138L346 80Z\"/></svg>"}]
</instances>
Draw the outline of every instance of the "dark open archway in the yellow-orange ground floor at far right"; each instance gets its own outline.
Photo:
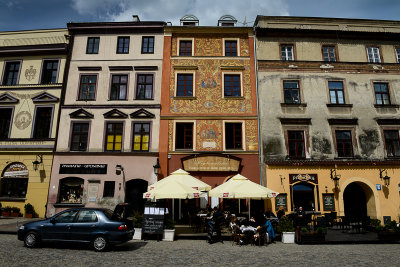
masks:
<instances>
[{"instance_id":1,"label":"dark open archway in the yellow-orange ground floor at far right","mask_svg":"<svg viewBox=\"0 0 400 267\"><path fill-rule=\"evenodd\" d=\"M346 216L354 219L362 219L367 216L367 195L363 187L368 188L357 182L346 186L343 192L344 214ZM372 192L370 193L372 194Z\"/></svg>"}]
</instances>

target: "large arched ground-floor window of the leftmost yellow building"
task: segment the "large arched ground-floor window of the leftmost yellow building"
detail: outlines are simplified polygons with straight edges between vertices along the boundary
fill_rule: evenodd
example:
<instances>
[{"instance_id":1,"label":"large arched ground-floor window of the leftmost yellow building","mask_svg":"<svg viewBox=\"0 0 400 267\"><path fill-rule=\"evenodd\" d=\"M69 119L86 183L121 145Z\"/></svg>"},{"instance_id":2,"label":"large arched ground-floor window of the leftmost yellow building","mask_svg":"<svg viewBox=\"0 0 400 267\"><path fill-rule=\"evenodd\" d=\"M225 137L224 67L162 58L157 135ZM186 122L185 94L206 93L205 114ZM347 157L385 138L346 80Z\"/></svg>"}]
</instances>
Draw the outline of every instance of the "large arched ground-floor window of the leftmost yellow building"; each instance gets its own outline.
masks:
<instances>
[{"instance_id":1,"label":"large arched ground-floor window of the leftmost yellow building","mask_svg":"<svg viewBox=\"0 0 400 267\"><path fill-rule=\"evenodd\" d=\"M28 190L29 172L20 162L9 164L1 175L1 196L25 198Z\"/></svg>"}]
</instances>

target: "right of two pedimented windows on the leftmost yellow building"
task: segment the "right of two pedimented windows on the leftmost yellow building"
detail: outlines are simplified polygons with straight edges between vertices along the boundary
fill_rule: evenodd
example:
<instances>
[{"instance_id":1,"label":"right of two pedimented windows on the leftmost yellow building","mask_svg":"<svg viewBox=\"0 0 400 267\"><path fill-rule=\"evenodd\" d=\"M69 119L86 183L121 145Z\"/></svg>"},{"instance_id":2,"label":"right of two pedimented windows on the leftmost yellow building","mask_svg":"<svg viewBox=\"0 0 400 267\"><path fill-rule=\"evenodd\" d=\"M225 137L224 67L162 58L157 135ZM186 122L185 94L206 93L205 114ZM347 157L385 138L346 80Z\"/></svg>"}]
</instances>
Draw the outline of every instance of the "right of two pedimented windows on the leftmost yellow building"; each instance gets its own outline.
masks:
<instances>
[{"instance_id":1,"label":"right of two pedimented windows on the leftmost yellow building","mask_svg":"<svg viewBox=\"0 0 400 267\"><path fill-rule=\"evenodd\" d=\"M33 138L50 138L51 118L53 116L52 107L37 107L35 112L35 125L33 128Z\"/></svg>"}]
</instances>

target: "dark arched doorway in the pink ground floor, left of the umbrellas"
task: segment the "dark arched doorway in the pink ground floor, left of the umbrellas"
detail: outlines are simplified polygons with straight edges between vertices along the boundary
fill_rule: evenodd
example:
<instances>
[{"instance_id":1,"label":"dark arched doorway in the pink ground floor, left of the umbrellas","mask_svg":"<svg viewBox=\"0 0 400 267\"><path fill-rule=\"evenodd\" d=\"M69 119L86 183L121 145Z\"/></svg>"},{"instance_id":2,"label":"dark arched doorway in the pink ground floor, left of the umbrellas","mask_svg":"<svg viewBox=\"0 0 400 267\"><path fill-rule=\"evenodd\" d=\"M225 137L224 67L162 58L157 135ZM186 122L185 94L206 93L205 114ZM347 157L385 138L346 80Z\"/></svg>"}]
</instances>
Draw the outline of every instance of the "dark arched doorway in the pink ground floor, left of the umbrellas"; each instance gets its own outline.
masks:
<instances>
[{"instance_id":1,"label":"dark arched doorway in the pink ground floor, left of the umbrellas","mask_svg":"<svg viewBox=\"0 0 400 267\"><path fill-rule=\"evenodd\" d=\"M132 205L133 210L143 212L143 193L147 192L148 182L142 179L133 179L126 182L125 202Z\"/></svg>"}]
</instances>

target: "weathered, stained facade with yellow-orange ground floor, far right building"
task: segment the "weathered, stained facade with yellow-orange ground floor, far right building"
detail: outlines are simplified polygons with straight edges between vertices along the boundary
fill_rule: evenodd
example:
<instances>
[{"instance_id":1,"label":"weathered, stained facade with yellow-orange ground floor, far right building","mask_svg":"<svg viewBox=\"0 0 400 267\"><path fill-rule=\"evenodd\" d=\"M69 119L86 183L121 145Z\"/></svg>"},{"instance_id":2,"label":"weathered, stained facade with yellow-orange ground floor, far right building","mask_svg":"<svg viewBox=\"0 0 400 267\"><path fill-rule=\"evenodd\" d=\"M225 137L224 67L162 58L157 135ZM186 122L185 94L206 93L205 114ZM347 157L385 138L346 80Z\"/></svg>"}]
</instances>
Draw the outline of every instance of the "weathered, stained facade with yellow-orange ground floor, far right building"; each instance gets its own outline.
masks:
<instances>
[{"instance_id":1,"label":"weathered, stained facade with yellow-orange ground floor, far right building","mask_svg":"<svg viewBox=\"0 0 400 267\"><path fill-rule=\"evenodd\" d=\"M399 221L400 23L258 16L255 30L268 205Z\"/></svg>"}]
</instances>

